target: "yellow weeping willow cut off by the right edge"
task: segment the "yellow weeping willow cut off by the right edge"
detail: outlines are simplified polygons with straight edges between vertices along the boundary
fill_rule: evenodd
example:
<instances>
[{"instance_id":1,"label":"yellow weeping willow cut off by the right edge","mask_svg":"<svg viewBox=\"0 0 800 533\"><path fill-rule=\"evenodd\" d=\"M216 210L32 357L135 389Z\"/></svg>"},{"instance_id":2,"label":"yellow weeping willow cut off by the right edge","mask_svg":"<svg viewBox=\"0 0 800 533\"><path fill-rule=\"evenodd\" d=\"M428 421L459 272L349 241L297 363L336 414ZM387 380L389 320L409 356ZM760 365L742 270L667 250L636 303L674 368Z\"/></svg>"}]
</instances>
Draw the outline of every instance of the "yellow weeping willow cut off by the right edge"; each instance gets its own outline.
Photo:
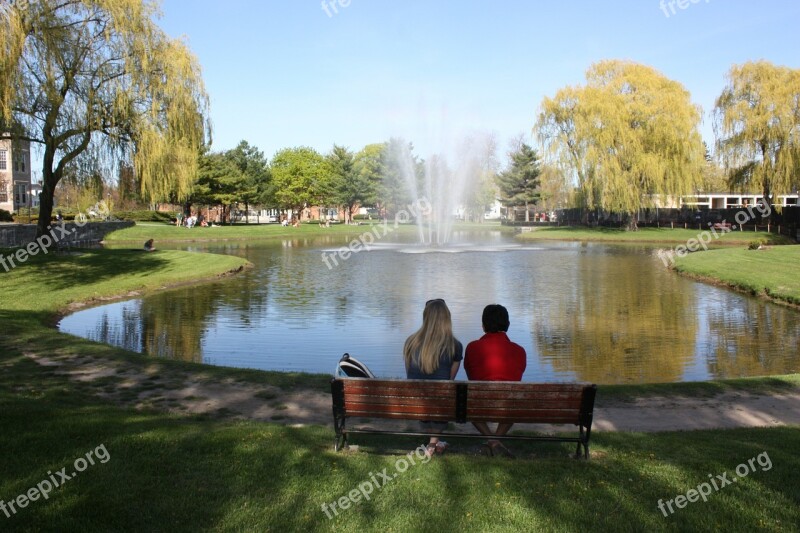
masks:
<instances>
[{"instance_id":1,"label":"yellow weeping willow cut off by the right edge","mask_svg":"<svg viewBox=\"0 0 800 533\"><path fill-rule=\"evenodd\" d=\"M714 109L729 183L773 194L800 186L800 70L767 61L735 65Z\"/></svg>"}]
</instances>

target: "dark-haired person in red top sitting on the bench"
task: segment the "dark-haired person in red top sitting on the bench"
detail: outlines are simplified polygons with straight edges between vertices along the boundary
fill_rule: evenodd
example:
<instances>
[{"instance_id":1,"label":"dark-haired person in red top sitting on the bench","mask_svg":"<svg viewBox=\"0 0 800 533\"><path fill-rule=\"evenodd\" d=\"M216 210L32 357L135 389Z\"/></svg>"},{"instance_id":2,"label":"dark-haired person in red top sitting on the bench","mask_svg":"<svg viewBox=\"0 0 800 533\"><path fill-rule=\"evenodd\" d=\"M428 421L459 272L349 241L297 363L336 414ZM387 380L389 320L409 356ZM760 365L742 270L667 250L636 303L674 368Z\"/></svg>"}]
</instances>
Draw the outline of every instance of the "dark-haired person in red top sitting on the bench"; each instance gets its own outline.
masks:
<instances>
[{"instance_id":1,"label":"dark-haired person in red top sitting on the bench","mask_svg":"<svg viewBox=\"0 0 800 533\"><path fill-rule=\"evenodd\" d=\"M474 381L520 381L527 365L525 348L511 342L506 332L510 322L508 310L502 305L487 305L481 317L484 335L467 345L464 356L464 370L467 378ZM473 422L483 435L505 435L513 424L500 423L494 432L486 422ZM490 455L511 452L499 440L486 443Z\"/></svg>"}]
</instances>

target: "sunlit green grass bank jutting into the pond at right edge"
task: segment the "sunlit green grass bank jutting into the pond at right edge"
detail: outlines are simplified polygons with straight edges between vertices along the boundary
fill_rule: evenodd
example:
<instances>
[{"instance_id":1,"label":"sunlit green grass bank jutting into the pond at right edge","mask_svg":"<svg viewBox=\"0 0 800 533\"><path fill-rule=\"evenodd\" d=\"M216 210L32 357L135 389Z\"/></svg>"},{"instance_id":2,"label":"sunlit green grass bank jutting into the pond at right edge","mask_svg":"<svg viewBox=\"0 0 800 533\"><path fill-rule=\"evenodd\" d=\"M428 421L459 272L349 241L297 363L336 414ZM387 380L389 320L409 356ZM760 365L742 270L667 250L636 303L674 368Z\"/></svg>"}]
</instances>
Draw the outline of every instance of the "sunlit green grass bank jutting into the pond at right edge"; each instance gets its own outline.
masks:
<instances>
[{"instance_id":1,"label":"sunlit green grass bank jutting into the pond at right edge","mask_svg":"<svg viewBox=\"0 0 800 533\"><path fill-rule=\"evenodd\" d=\"M675 257L678 272L800 305L800 246L709 250Z\"/></svg>"}]
</instances>

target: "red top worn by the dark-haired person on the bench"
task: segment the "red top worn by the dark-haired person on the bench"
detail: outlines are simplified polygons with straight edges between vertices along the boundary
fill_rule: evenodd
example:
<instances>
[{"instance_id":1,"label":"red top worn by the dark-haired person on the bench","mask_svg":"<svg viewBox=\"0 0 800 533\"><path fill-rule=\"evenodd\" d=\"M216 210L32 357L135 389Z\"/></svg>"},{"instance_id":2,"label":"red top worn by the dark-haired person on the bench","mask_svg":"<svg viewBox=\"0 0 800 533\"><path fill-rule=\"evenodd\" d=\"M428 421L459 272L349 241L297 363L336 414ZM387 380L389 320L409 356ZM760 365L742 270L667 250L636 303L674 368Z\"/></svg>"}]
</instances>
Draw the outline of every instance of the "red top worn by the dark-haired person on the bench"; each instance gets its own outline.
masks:
<instances>
[{"instance_id":1,"label":"red top worn by the dark-haired person on the bench","mask_svg":"<svg viewBox=\"0 0 800 533\"><path fill-rule=\"evenodd\" d=\"M502 331L472 341L464 356L467 378L476 381L520 381L526 365L525 348Z\"/></svg>"}]
</instances>

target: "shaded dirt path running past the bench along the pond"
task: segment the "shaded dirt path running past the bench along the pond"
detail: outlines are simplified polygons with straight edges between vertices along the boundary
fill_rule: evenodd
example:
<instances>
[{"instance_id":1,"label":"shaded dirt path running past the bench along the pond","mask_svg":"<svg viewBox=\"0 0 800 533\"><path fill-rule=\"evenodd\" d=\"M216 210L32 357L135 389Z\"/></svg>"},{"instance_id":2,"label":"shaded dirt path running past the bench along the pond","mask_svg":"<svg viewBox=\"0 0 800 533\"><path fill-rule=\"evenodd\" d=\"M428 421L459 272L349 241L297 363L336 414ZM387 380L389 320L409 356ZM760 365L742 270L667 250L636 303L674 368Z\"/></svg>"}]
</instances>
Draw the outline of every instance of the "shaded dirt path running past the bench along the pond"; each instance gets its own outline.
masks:
<instances>
[{"instance_id":1,"label":"shaded dirt path running past the bench along the pond","mask_svg":"<svg viewBox=\"0 0 800 533\"><path fill-rule=\"evenodd\" d=\"M330 394L318 390L286 391L269 385L215 379L201 371L170 370L165 373L161 365L140 365L124 359L47 358L36 354L27 354L27 357L79 388L128 407L296 426L332 426ZM790 424L800 424L800 391L598 402L593 430L650 432ZM461 427L471 429L466 425ZM558 429L541 425L534 427L537 431ZM524 425L519 425L519 428L525 429Z\"/></svg>"}]
</instances>

